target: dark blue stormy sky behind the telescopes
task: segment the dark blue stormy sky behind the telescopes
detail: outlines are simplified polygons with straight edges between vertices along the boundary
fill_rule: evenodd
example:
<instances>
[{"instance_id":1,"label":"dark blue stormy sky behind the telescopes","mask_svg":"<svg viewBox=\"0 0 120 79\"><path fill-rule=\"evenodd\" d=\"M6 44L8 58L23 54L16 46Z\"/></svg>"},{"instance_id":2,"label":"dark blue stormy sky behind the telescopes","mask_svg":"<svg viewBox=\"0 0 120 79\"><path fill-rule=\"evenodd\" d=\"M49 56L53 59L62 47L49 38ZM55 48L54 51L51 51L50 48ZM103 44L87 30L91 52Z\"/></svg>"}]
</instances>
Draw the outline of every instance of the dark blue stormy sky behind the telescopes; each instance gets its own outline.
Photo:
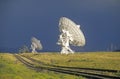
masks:
<instances>
[{"instance_id":1,"label":"dark blue stormy sky behind the telescopes","mask_svg":"<svg viewBox=\"0 0 120 79\"><path fill-rule=\"evenodd\" d=\"M43 51L60 51L62 16L81 25L86 38L73 50L120 49L120 0L0 0L0 51L30 47L31 37L41 40Z\"/></svg>"}]
</instances>

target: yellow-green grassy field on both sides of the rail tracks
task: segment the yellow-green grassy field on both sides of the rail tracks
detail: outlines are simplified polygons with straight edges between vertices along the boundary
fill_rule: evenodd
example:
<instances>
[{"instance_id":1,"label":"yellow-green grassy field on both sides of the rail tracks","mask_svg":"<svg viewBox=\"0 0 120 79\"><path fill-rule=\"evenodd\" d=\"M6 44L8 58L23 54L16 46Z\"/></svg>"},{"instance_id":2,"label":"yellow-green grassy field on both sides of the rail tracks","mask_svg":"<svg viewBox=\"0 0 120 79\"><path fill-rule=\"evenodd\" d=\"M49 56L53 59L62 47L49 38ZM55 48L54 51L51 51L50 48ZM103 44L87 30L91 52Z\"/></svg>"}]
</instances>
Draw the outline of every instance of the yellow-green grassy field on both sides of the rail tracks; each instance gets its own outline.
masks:
<instances>
[{"instance_id":1,"label":"yellow-green grassy field on both sides of the rail tracks","mask_svg":"<svg viewBox=\"0 0 120 79\"><path fill-rule=\"evenodd\" d=\"M87 52L61 55L59 53L24 53L47 64L60 66L120 70L120 52ZM120 73L118 73L120 75ZM27 68L9 53L0 53L0 79L84 79L54 72L36 72Z\"/></svg>"}]
</instances>

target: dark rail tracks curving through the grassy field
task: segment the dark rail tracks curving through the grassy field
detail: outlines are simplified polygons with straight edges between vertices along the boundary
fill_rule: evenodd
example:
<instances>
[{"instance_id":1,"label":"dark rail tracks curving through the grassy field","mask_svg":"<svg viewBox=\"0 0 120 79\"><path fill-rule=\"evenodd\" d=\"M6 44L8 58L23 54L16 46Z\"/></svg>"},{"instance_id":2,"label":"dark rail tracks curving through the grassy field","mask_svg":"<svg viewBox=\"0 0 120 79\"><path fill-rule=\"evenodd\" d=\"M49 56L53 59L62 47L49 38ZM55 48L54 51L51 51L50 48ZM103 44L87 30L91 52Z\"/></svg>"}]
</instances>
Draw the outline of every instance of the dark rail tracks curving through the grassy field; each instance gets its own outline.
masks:
<instances>
[{"instance_id":1,"label":"dark rail tracks curving through the grassy field","mask_svg":"<svg viewBox=\"0 0 120 79\"><path fill-rule=\"evenodd\" d=\"M48 70L64 74L83 76L88 79L120 79L120 76L109 75L111 73L118 73L119 71L117 70L57 66L52 64L45 64L44 62L24 55L14 54L14 56L27 67L36 71Z\"/></svg>"}]
</instances>

